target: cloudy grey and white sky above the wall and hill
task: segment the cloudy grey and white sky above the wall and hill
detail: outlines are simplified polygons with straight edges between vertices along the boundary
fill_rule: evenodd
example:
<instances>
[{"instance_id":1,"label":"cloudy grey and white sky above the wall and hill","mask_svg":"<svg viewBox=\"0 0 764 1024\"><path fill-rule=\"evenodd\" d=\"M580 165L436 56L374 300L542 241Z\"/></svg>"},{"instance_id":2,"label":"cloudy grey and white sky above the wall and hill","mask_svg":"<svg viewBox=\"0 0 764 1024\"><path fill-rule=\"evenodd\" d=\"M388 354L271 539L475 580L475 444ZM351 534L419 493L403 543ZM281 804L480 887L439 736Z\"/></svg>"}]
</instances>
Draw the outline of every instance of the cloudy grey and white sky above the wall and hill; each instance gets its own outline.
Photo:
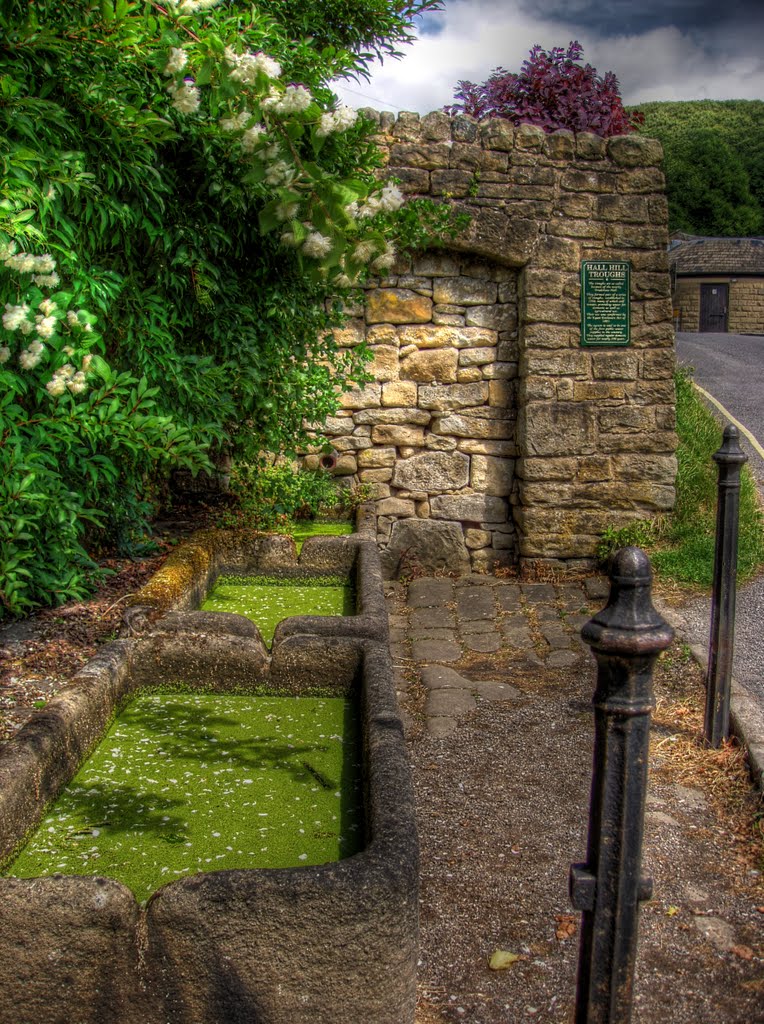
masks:
<instances>
[{"instance_id":1,"label":"cloudy grey and white sky above the wall and hill","mask_svg":"<svg viewBox=\"0 0 764 1024\"><path fill-rule=\"evenodd\" d=\"M459 80L518 71L535 43L574 39L600 75L616 73L626 103L764 99L763 0L445 0L418 35L371 82L337 85L344 102L426 114Z\"/></svg>"}]
</instances>

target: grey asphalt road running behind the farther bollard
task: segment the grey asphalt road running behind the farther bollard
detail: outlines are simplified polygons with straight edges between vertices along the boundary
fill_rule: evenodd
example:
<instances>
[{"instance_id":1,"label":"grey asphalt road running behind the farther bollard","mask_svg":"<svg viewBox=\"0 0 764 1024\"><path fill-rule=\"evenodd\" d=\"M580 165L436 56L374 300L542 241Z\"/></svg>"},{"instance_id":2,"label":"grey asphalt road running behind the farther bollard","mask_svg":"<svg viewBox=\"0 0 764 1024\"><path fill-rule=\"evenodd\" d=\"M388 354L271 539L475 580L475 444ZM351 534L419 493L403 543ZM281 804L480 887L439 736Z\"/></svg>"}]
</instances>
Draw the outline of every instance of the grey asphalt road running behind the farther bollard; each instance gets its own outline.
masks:
<instances>
[{"instance_id":1,"label":"grey asphalt road running behind the farther bollard","mask_svg":"<svg viewBox=\"0 0 764 1024\"><path fill-rule=\"evenodd\" d=\"M741 334L677 334L680 364L694 368L693 378L746 427L764 447L764 337ZM721 421L724 415L715 410ZM764 459L746 437L740 447L764 495ZM682 609L691 642L708 648L710 601ZM733 674L764 709L764 577L737 593ZM764 741L764 737L761 737Z\"/></svg>"}]
</instances>

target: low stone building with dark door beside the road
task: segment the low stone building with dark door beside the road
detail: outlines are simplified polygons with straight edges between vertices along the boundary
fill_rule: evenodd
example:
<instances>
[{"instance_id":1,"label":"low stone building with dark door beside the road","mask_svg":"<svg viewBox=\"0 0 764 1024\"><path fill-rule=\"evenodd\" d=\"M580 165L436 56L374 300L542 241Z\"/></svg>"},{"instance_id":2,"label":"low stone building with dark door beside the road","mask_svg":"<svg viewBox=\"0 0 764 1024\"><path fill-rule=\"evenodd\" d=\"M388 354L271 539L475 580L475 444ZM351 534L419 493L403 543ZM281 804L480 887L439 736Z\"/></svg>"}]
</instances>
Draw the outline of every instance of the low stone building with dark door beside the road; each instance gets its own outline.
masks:
<instances>
[{"instance_id":1,"label":"low stone building with dark door beside the road","mask_svg":"<svg viewBox=\"0 0 764 1024\"><path fill-rule=\"evenodd\" d=\"M669 259L680 331L764 334L764 239L679 236Z\"/></svg>"}]
</instances>

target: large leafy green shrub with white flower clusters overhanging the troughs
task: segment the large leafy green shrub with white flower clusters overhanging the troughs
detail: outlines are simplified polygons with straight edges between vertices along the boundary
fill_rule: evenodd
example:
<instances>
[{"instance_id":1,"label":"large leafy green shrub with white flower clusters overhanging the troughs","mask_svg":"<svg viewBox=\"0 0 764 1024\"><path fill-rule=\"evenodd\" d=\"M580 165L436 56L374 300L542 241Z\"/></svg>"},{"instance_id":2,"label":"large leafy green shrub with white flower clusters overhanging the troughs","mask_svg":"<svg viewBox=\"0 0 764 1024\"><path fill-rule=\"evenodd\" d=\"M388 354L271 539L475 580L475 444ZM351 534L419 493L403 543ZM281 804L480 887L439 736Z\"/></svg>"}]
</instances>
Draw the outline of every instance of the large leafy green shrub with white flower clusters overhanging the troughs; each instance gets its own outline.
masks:
<instances>
[{"instance_id":1,"label":"large leafy green shrub with white flower clusters overhanging the troughs","mask_svg":"<svg viewBox=\"0 0 764 1024\"><path fill-rule=\"evenodd\" d=\"M327 83L438 0L0 5L0 616L83 593L159 473L278 451L364 351L339 302L429 217ZM416 208L416 204L412 204Z\"/></svg>"}]
</instances>

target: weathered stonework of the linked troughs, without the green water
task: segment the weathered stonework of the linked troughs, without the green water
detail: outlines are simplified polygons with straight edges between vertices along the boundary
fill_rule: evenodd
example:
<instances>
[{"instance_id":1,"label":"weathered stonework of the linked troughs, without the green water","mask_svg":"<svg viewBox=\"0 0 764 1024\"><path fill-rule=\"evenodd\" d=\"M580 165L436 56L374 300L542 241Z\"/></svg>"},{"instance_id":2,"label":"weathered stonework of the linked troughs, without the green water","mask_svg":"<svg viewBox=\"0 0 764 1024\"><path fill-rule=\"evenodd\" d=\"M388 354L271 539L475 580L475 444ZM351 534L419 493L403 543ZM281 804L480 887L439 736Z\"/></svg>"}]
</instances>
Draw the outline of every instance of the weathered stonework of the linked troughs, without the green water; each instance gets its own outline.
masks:
<instances>
[{"instance_id":1,"label":"weathered stonework of the linked troughs, without the green water","mask_svg":"<svg viewBox=\"0 0 764 1024\"><path fill-rule=\"evenodd\" d=\"M216 557L208 571L223 564ZM384 616L376 636L363 635L365 623L374 632L381 587L373 596L365 580L373 556L357 538L306 542L297 567L331 562L335 571L338 559L357 574L359 613L288 620L270 655L241 616L184 610L187 595L168 612L144 601L141 631L133 617L132 635L104 647L0 752L0 860L11 860L119 710L147 688L173 685L350 696L363 736L360 852L314 866L197 873L162 886L145 905L107 878L2 878L0 1020L414 1021L418 854L410 769L379 633Z\"/></svg>"}]
</instances>

